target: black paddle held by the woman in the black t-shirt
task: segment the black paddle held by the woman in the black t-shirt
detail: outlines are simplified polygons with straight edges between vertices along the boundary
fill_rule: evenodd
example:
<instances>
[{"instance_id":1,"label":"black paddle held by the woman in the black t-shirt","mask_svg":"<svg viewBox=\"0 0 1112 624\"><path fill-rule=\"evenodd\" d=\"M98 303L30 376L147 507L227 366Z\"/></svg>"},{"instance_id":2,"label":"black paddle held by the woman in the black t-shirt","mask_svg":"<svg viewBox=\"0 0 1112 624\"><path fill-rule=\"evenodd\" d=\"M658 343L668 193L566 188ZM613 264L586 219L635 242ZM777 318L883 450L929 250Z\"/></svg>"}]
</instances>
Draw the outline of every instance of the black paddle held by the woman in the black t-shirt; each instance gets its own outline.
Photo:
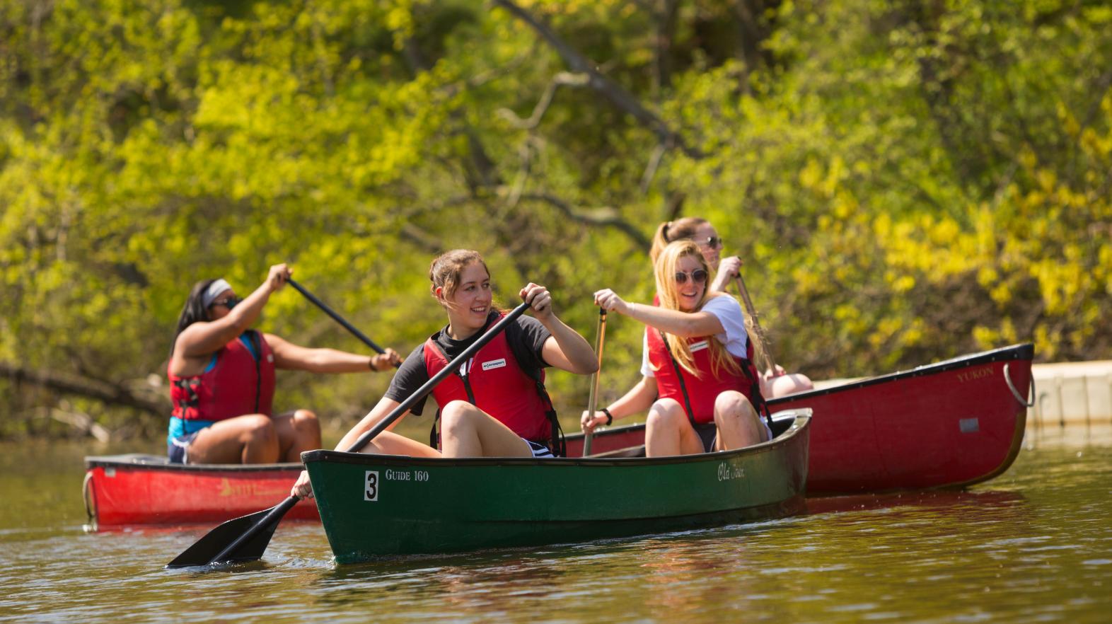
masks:
<instances>
[{"instance_id":1,"label":"black paddle held by the woman in the black t-shirt","mask_svg":"<svg viewBox=\"0 0 1112 624\"><path fill-rule=\"evenodd\" d=\"M359 439L355 440L355 443L346 449L346 453L358 452L366 446L371 438L386 430L386 428L400 418L403 414L408 412L414 404L425 398L428 393L433 392L433 388L443 382L445 377L457 370L460 363L467 361L468 358L478 353L478 350L486 346L486 344L497 336L499 331L505 329L507 325L514 323L517 317L522 316L528 307L529 304L522 304L517 306L509 314L503 317L502 320L490 327L490 329L487 329L486 334L481 335L477 340L475 340L475 343L471 344L471 346L467 347L461 354L453 358L447 366L434 375L433 378L425 383L425 385L417 388L417 392L410 395L409 398L401 402L400 405L395 407L393 412L379 420L377 425L370 428L370 430L359 436ZM278 527L278 523L281 521L281 517L286 515L286 512L290 511L297 502L298 497L290 495L285 501L274 507L270 507L269 509L264 509L247 516L230 519L210 531L207 535L205 535L205 537L198 539L192 546L186 548L185 552L175 557L175 559L167 564L166 567L187 567L258 559L262 556L264 551L267 549L267 545L270 543L270 537L274 535L275 528Z\"/></svg>"}]
</instances>

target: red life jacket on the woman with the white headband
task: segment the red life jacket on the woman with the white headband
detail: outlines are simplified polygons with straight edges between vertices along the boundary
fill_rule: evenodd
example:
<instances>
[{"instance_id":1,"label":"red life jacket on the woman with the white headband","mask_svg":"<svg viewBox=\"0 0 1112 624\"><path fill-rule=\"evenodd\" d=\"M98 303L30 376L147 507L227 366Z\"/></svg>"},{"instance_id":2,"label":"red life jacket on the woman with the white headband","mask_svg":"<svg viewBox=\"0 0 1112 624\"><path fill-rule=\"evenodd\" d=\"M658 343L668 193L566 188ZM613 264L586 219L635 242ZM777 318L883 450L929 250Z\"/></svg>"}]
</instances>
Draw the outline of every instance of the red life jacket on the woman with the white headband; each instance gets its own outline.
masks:
<instances>
[{"instance_id":1,"label":"red life jacket on the woman with the white headband","mask_svg":"<svg viewBox=\"0 0 1112 624\"><path fill-rule=\"evenodd\" d=\"M260 351L256 359L241 338ZM170 375L173 416L183 420L225 420L245 414L270 415L275 396L275 356L254 329L216 353L212 368L189 377Z\"/></svg>"}]
</instances>

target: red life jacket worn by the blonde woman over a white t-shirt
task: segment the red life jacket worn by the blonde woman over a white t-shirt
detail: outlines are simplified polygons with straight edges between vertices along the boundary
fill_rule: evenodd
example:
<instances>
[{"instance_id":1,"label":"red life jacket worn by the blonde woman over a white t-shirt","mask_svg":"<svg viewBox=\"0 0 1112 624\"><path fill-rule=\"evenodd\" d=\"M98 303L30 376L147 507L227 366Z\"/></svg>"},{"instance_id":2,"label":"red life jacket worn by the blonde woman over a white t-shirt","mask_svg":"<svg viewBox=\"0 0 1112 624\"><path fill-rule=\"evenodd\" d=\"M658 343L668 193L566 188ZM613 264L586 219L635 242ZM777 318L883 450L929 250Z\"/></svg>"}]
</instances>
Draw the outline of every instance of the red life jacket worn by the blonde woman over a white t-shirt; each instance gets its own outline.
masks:
<instances>
[{"instance_id":1,"label":"red life jacket worn by the blonde woman over a white t-shirt","mask_svg":"<svg viewBox=\"0 0 1112 624\"><path fill-rule=\"evenodd\" d=\"M714 336L688 338L687 345L695 360L694 367L702 374L696 377L683 369L668 350L664 334L652 327L646 327L648 341L648 361L656 373L656 392L661 398L672 398L684 406L687 418L692 423L713 423L714 402L725 390L737 390L749 399L753 407L761 414L764 399L761 397L761 386L756 367L753 366L753 343L746 340L746 357L734 355L742 373L735 374L726 367L718 369L718 376L712 374L711 340Z\"/></svg>"}]
</instances>

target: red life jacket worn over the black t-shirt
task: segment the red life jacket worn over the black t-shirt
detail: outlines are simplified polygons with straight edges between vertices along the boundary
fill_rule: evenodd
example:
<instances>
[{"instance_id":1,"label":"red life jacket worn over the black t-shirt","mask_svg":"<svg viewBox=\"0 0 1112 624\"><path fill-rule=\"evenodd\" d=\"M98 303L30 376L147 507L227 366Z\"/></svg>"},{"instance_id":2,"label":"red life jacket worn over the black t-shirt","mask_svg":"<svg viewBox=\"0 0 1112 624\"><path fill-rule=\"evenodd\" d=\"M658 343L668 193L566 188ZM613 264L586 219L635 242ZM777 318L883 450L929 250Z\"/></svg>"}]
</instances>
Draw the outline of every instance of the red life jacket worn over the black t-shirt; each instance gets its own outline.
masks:
<instances>
[{"instance_id":1,"label":"red life jacket worn over the black t-shirt","mask_svg":"<svg viewBox=\"0 0 1112 624\"><path fill-rule=\"evenodd\" d=\"M498 315L498 318L503 316ZM448 365L448 358L435 337L425 341L425 369L430 378ZM543 370L535 379L522 369L503 331L479 349L475 357L460 365L460 370L433 388L433 396L441 408L453 400L466 400L525 439L546 446L556 445L558 440L554 438L558 434L553 430L552 423L556 413L545 390L544 379ZM435 436L435 424L433 428ZM435 443L433 440L434 446Z\"/></svg>"}]
</instances>

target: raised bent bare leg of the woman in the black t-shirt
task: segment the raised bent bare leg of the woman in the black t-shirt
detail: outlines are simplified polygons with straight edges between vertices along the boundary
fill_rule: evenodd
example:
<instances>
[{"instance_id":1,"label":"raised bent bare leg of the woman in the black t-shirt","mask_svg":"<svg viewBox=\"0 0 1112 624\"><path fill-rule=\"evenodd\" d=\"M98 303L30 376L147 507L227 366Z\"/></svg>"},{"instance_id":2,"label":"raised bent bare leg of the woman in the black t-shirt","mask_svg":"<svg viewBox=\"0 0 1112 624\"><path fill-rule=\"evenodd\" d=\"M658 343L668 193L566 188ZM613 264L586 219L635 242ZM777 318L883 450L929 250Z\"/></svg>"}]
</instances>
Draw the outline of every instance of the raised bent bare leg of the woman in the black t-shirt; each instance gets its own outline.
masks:
<instances>
[{"instance_id":1,"label":"raised bent bare leg of the woman in the black t-shirt","mask_svg":"<svg viewBox=\"0 0 1112 624\"><path fill-rule=\"evenodd\" d=\"M453 400L440 410L440 450L445 457L533 456L520 436L465 400Z\"/></svg>"}]
</instances>

